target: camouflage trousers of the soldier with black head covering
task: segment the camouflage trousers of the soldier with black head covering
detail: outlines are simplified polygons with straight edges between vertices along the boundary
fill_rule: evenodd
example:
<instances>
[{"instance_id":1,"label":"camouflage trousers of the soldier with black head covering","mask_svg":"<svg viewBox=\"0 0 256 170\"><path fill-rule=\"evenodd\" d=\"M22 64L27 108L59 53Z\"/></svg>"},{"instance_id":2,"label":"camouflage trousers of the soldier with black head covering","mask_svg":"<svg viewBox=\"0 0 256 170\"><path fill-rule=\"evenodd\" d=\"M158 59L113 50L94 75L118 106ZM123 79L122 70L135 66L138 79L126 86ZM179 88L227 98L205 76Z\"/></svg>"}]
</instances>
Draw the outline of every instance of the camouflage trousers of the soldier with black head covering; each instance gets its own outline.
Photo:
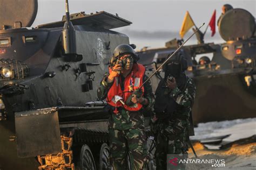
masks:
<instances>
[{"instance_id":1,"label":"camouflage trousers of the soldier with black head covering","mask_svg":"<svg viewBox=\"0 0 256 170\"><path fill-rule=\"evenodd\" d=\"M171 154L168 160L187 158L186 129L184 132L175 135L169 133L172 130L171 126L160 126L159 133L156 137L157 146L155 158L157 169L167 169L167 154ZM185 169L185 164L172 166L172 169Z\"/></svg>"}]
</instances>

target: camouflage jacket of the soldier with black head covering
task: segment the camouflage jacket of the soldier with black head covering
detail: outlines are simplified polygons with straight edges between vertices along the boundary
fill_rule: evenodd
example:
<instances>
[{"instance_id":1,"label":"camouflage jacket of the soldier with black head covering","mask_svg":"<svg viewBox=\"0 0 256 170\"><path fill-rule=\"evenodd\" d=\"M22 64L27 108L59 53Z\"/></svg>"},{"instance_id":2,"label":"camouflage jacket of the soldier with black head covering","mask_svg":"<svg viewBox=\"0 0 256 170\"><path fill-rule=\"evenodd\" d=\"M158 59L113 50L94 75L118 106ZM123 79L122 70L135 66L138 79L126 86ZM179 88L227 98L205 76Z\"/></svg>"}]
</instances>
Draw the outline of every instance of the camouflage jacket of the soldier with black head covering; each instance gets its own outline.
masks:
<instances>
[{"instance_id":1,"label":"camouflage jacket of the soldier with black head covering","mask_svg":"<svg viewBox=\"0 0 256 170\"><path fill-rule=\"evenodd\" d=\"M189 116L196 94L196 86L192 79L187 78L184 91L176 87L173 90L166 89L166 94L170 95L178 106L170 119L158 122L157 126L160 128L161 132L166 132L168 135L184 133L184 130L190 125Z\"/></svg>"}]
</instances>

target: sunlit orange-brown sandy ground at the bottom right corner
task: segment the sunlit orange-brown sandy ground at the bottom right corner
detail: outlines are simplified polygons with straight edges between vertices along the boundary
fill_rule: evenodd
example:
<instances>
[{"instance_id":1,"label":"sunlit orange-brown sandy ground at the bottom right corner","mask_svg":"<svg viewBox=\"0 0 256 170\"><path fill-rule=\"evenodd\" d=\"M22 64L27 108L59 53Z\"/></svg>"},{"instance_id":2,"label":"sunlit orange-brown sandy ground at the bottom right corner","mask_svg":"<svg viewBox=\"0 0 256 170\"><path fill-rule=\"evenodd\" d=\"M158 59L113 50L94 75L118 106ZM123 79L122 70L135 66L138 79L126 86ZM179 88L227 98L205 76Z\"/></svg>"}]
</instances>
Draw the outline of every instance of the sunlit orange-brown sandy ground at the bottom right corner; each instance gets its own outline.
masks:
<instances>
[{"instance_id":1,"label":"sunlit orange-brown sandy ground at the bottom right corner","mask_svg":"<svg viewBox=\"0 0 256 170\"><path fill-rule=\"evenodd\" d=\"M198 159L224 159L225 167L212 167L212 164L187 164L186 169L256 169L256 143L234 144L226 150L207 150L202 144L196 143L194 149ZM188 153L189 159L196 159L191 149Z\"/></svg>"}]
</instances>

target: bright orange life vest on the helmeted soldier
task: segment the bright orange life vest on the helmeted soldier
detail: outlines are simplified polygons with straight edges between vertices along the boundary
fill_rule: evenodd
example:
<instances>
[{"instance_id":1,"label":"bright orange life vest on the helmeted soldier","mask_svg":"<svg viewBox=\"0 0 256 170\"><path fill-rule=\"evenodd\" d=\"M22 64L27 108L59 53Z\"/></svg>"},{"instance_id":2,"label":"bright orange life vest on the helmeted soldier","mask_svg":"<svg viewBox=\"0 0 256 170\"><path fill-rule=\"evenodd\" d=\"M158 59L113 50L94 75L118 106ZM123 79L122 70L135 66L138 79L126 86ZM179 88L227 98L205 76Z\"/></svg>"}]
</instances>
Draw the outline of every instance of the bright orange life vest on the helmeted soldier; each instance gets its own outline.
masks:
<instances>
[{"instance_id":1,"label":"bright orange life vest on the helmeted soldier","mask_svg":"<svg viewBox=\"0 0 256 170\"><path fill-rule=\"evenodd\" d=\"M111 73L112 70L109 69L109 73ZM117 103L114 102L114 96L118 95L123 98L123 101L126 102L127 98L133 93L134 90L138 89L142 83L143 83L143 76L145 74L145 67L143 65L140 65L138 63L134 63L131 73L127 75L124 79L124 90L121 89L120 82L121 78L120 76L114 77L114 82L109 89L109 92L107 93L106 102L109 105L112 105L113 107L123 107L126 110L129 111L138 111L142 109L143 105L140 103L133 104L131 106L128 106L126 104L122 104L120 101ZM131 87L133 86L133 91L129 91ZM144 94L144 87L142 87L142 92Z\"/></svg>"}]
</instances>

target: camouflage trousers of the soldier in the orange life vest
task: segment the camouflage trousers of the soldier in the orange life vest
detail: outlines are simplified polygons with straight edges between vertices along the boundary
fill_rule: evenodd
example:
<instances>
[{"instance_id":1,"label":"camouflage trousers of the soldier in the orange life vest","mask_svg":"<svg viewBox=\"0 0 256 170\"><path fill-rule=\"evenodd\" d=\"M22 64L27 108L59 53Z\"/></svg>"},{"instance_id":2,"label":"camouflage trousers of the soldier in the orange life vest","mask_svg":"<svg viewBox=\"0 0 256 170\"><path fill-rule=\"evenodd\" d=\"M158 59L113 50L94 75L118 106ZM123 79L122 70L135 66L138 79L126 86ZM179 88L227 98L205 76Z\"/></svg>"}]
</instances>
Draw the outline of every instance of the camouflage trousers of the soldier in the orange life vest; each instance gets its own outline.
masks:
<instances>
[{"instance_id":1,"label":"camouflage trousers of the soldier in the orange life vest","mask_svg":"<svg viewBox=\"0 0 256 170\"><path fill-rule=\"evenodd\" d=\"M146 136L141 129L109 129L110 162L114 169L143 169L146 161ZM130 162L128 161L130 153Z\"/></svg>"}]
</instances>

